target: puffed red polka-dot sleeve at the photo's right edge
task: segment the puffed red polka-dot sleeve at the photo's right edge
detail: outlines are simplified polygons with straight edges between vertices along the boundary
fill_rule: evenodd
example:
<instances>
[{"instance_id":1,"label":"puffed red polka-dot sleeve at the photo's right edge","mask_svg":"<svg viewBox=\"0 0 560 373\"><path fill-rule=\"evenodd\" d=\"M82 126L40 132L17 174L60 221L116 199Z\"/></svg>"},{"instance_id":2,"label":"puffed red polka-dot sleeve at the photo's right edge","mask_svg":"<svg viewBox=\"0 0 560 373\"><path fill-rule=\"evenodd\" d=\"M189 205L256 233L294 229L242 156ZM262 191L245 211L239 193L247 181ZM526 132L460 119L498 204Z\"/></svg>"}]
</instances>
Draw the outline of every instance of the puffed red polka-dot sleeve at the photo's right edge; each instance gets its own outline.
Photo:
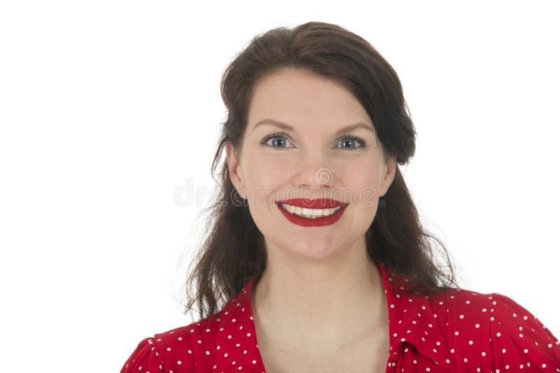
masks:
<instances>
[{"instance_id":1,"label":"puffed red polka-dot sleeve at the photo's right edge","mask_svg":"<svg viewBox=\"0 0 560 373\"><path fill-rule=\"evenodd\" d=\"M490 320L496 372L560 372L560 342L531 312L493 293Z\"/></svg>"}]
</instances>

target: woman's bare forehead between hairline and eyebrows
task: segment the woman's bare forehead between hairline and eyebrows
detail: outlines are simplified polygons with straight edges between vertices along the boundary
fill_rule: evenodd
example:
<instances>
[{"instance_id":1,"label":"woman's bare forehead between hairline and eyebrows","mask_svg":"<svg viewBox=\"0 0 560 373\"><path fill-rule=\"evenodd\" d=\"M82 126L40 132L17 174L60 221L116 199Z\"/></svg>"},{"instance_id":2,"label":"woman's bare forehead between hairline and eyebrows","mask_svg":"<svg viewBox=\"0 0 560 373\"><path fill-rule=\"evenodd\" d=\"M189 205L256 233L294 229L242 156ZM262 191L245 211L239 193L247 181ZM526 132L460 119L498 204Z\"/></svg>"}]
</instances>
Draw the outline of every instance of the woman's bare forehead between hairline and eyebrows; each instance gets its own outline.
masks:
<instances>
[{"instance_id":1,"label":"woman's bare forehead between hairline and eyebrows","mask_svg":"<svg viewBox=\"0 0 560 373\"><path fill-rule=\"evenodd\" d=\"M370 122L358 99L344 86L295 68L269 73L255 84L248 123L268 117L294 124Z\"/></svg>"}]
</instances>

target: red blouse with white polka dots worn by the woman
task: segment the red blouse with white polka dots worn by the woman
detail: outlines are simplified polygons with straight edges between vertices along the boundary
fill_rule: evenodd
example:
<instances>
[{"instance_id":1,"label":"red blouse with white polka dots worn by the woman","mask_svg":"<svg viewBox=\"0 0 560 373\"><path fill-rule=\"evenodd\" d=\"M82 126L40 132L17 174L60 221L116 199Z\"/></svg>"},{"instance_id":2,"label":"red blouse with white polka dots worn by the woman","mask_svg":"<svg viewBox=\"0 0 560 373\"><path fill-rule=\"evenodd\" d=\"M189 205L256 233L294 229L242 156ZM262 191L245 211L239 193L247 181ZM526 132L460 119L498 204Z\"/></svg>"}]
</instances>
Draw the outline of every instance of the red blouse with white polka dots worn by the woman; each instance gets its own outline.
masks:
<instances>
[{"instance_id":1,"label":"red blouse with white polka dots worn by the woman","mask_svg":"<svg viewBox=\"0 0 560 373\"><path fill-rule=\"evenodd\" d=\"M386 372L560 372L560 342L498 293L405 295L376 261L389 314ZM251 311L252 279L218 314L142 340L121 373L265 372Z\"/></svg>"}]
</instances>

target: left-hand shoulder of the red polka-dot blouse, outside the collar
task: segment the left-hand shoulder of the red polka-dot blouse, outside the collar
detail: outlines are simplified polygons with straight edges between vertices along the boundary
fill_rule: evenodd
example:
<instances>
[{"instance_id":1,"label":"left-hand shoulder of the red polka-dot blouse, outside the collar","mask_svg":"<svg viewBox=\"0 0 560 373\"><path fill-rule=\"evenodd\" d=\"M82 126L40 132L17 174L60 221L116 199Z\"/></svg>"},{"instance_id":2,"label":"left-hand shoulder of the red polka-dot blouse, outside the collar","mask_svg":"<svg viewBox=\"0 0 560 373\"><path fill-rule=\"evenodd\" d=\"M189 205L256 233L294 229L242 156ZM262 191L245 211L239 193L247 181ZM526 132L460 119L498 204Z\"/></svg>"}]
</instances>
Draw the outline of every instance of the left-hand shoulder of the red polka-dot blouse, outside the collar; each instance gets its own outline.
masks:
<instances>
[{"instance_id":1,"label":"left-hand shoulder of the red polka-dot blouse, outside the collar","mask_svg":"<svg viewBox=\"0 0 560 373\"><path fill-rule=\"evenodd\" d=\"M142 339L120 372L210 370L207 357L214 351L221 314Z\"/></svg>"}]
</instances>

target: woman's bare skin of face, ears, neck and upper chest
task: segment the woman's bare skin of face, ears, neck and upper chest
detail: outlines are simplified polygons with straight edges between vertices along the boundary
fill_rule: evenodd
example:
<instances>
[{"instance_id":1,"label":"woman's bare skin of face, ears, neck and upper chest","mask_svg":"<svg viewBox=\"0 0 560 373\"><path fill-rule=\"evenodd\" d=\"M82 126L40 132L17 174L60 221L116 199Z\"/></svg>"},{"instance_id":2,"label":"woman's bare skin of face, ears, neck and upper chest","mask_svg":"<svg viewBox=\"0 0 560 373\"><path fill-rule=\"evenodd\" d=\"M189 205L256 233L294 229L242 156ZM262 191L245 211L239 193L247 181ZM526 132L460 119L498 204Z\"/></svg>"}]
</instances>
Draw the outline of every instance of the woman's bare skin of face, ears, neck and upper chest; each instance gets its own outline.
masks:
<instances>
[{"instance_id":1,"label":"woman's bare skin of face, ears, neck and upper chest","mask_svg":"<svg viewBox=\"0 0 560 373\"><path fill-rule=\"evenodd\" d=\"M269 124L253 129L265 118L295 131ZM373 131L335 136L357 122ZM261 144L276 132L284 135L268 140L268 147ZM351 92L314 73L283 68L255 85L240 154L226 144L232 183L248 200L265 237L267 270L251 303L263 361L271 367L324 365L374 342L386 344L381 351L387 356L379 358L386 363L386 296L379 270L367 258L365 232L379 197L393 182L396 160L386 157L377 142L372 119ZM318 171L328 177L317 177ZM373 191L367 200L360 195L364 190ZM335 224L298 226L274 205L275 200L320 197L349 203Z\"/></svg>"}]
</instances>

